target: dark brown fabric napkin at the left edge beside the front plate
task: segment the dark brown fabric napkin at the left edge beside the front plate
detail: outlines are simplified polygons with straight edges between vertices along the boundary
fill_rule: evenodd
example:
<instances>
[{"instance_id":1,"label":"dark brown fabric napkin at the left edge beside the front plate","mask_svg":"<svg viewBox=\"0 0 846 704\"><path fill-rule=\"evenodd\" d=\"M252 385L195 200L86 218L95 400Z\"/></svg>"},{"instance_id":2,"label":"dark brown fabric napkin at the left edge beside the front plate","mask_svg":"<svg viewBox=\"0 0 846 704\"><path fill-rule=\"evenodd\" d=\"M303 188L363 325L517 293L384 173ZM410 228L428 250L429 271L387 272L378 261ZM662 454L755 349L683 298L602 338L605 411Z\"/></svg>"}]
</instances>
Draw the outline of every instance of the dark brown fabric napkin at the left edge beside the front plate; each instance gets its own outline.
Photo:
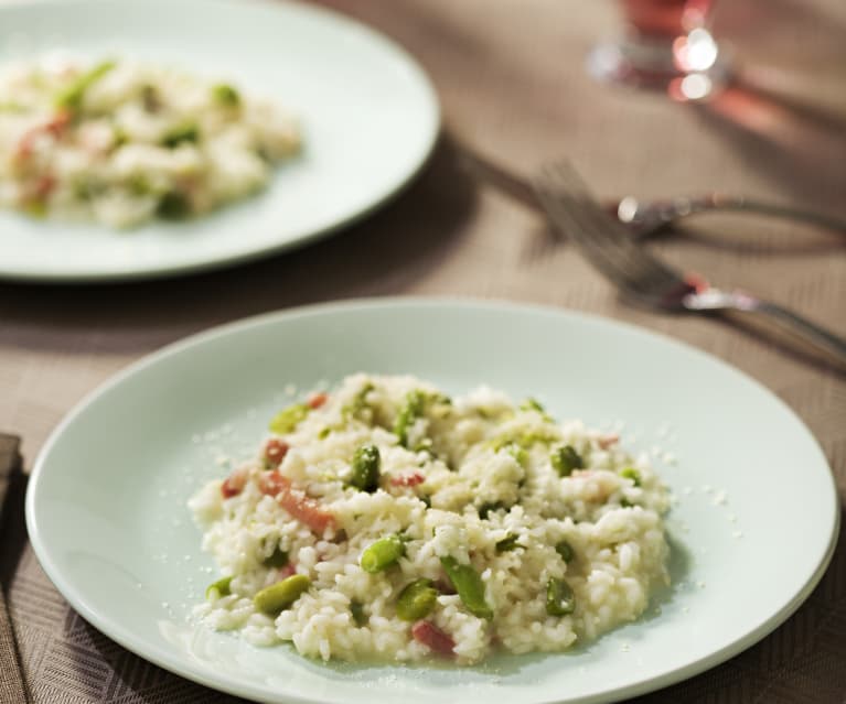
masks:
<instances>
[{"instance_id":1,"label":"dark brown fabric napkin at the left edge beside the front plate","mask_svg":"<svg viewBox=\"0 0 846 704\"><path fill-rule=\"evenodd\" d=\"M0 545L2 545L2 555L10 554L9 535L4 530L3 517L9 513L4 511L7 498L12 499L18 496L17 491L9 491L9 488L21 474L21 455L18 452L20 440L14 435L0 433ZM2 561L6 562L6 561ZM18 654L18 643L14 639L14 630L9 610L6 605L6 595L9 585L7 578L11 577L11 571L2 565L0 572L0 702L20 702L26 704L29 697L26 687L23 684L23 673L21 671L21 660Z\"/></svg>"}]
</instances>

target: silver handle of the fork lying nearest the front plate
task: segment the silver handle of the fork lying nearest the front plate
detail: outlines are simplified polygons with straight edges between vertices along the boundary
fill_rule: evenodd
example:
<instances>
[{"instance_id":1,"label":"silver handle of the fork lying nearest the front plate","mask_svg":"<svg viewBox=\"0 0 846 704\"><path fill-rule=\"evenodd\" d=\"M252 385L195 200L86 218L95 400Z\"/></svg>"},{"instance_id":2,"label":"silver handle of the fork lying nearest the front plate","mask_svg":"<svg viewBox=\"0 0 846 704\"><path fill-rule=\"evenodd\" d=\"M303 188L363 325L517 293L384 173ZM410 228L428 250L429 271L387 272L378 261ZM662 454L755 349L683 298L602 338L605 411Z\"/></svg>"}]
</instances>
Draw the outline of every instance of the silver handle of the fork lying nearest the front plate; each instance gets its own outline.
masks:
<instances>
[{"instance_id":1,"label":"silver handle of the fork lying nearest the front plate","mask_svg":"<svg viewBox=\"0 0 846 704\"><path fill-rule=\"evenodd\" d=\"M722 292L708 289L685 296L684 306L690 311L739 311L758 314L783 333L810 345L828 359L846 368L846 339L778 303L761 301L742 291Z\"/></svg>"}]
</instances>

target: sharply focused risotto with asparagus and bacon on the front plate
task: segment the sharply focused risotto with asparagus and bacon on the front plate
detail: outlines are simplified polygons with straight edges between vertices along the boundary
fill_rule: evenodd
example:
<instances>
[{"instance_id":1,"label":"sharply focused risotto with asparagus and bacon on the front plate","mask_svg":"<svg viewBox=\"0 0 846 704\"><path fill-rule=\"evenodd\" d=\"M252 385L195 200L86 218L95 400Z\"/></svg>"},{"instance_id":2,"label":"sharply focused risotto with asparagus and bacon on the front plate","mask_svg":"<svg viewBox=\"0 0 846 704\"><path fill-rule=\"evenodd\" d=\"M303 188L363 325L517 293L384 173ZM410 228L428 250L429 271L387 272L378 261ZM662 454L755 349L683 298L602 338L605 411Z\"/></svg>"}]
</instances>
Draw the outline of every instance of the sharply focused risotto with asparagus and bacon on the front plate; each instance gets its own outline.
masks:
<instances>
[{"instance_id":1,"label":"sharply focused risotto with asparagus and bacon on the front plate","mask_svg":"<svg viewBox=\"0 0 846 704\"><path fill-rule=\"evenodd\" d=\"M668 584L668 494L614 434L482 387L347 377L190 501L208 626L323 660L563 651Z\"/></svg>"}]
</instances>

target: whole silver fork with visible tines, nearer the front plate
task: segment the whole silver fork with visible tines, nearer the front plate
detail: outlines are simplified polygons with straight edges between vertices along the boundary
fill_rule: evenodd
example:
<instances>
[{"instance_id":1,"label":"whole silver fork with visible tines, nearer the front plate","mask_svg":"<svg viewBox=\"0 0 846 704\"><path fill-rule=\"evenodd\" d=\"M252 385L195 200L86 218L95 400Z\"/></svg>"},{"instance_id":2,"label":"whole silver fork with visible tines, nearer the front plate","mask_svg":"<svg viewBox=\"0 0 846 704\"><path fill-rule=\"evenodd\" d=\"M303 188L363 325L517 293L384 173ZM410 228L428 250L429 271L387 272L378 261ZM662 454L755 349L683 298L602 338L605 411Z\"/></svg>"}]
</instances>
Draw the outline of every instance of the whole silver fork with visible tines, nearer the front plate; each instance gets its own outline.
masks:
<instances>
[{"instance_id":1,"label":"whole silver fork with visible tines, nearer the front plate","mask_svg":"<svg viewBox=\"0 0 846 704\"><path fill-rule=\"evenodd\" d=\"M756 314L846 366L846 339L777 303L739 290L722 291L698 274L683 274L658 261L599 205L569 162L546 165L534 187L555 227L635 302L674 313Z\"/></svg>"}]
</instances>

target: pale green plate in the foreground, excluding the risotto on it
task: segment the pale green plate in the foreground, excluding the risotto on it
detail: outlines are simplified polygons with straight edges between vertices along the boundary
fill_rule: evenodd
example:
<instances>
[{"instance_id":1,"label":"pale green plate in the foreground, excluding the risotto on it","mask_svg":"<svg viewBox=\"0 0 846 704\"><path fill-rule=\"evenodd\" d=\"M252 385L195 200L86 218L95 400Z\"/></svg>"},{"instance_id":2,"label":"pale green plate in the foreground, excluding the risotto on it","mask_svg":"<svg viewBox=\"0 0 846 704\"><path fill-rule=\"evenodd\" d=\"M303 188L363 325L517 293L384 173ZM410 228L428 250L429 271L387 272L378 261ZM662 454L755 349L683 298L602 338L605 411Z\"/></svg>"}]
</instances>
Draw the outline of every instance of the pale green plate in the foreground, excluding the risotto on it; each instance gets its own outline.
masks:
<instances>
[{"instance_id":1,"label":"pale green plate in the foreground, excluding the risotto on it","mask_svg":"<svg viewBox=\"0 0 846 704\"><path fill-rule=\"evenodd\" d=\"M288 398L354 371L460 393L536 396L656 457L677 497L674 586L638 622L570 654L472 669L323 664L192 624L212 581L185 507L222 455L248 456ZM661 445L662 448L654 447ZM665 455L672 453L676 459ZM35 463L35 553L83 617L138 654L268 702L599 702L690 676L749 647L807 597L838 522L825 458L768 390L690 347L563 311L438 300L293 310L172 345L93 393Z\"/></svg>"}]
</instances>

